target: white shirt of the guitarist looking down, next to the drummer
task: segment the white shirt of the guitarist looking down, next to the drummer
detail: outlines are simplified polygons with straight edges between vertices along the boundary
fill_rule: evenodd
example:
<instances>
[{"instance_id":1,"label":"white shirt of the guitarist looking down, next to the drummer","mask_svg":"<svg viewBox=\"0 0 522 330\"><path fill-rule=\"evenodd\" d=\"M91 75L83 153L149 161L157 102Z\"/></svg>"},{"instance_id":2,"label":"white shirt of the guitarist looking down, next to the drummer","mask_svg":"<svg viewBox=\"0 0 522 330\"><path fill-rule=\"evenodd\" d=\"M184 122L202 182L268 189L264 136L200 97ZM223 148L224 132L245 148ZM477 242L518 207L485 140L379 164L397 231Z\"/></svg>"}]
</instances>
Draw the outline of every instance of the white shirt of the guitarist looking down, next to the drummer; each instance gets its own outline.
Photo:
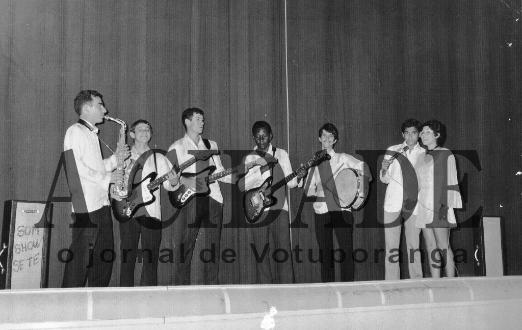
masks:
<instances>
[{"instance_id":1,"label":"white shirt of the guitarist looking down, next to the drummer","mask_svg":"<svg viewBox=\"0 0 522 330\"><path fill-rule=\"evenodd\" d=\"M257 145L254 147L254 150L257 150ZM274 181L272 181L272 186L273 186L279 180L292 174L292 172L293 172L292 164L290 164L290 158L288 156L288 153L280 148L276 148L276 152L274 153L274 148L272 147L271 143L268 145L267 154L276 158L278 161L277 163L281 166L281 168L283 170L282 177L276 177L276 175L274 174ZM254 162L259 158L260 158L260 156L257 153L248 154L243 159L243 164ZM275 166L277 166L277 164ZM272 170L275 170L275 169L276 169L276 167L274 167ZM239 189L244 191L244 190L260 187L269 176L270 176L270 170L268 169L268 166L263 166L263 168L261 166L254 166L253 168L249 169L247 174L245 175L245 177L243 179L241 179L241 182L238 185ZM287 186L289 188L295 188L295 187L301 188L303 186L303 180L301 180L301 182L299 182L299 184L298 184L297 177L295 177L292 180L288 181ZM281 191L281 193L279 193L278 194L279 196L277 196L278 203L276 205L278 205L279 202L282 199L284 199L284 205L282 206L282 210L288 211L288 202L285 198L286 197L286 188L283 186L283 187L279 188L278 190L276 190L276 192L279 192L279 191ZM274 195L276 194L276 192L274 192ZM274 209L274 207L276 207L276 205L272 206L272 209ZM277 209L277 207L276 207L276 209ZM265 209L265 212L268 210L270 210L270 207L267 207Z\"/></svg>"}]
</instances>

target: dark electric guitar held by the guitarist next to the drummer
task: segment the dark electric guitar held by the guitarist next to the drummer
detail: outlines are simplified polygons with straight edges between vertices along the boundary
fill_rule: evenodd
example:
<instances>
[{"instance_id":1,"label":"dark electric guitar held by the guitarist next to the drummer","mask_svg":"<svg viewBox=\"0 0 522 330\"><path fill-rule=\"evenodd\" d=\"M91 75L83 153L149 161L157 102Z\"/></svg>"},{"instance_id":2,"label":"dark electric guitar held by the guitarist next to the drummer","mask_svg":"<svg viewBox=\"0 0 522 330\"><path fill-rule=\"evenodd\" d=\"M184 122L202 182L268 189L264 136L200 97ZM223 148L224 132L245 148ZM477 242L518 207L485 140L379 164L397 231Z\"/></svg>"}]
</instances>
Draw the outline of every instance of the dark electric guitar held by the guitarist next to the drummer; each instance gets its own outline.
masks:
<instances>
[{"instance_id":1,"label":"dark electric guitar held by the guitarist next to the drummer","mask_svg":"<svg viewBox=\"0 0 522 330\"><path fill-rule=\"evenodd\" d=\"M250 223L255 222L267 207L277 203L277 199L272 196L272 193L288 184L291 179L299 174L301 169L309 169L310 167L316 166L330 158L330 155L327 153L323 155L315 155L308 163L296 169L290 175L277 182L274 186L270 186L274 178L268 177L260 187L247 190L243 197L243 210L247 221Z\"/></svg>"}]
</instances>

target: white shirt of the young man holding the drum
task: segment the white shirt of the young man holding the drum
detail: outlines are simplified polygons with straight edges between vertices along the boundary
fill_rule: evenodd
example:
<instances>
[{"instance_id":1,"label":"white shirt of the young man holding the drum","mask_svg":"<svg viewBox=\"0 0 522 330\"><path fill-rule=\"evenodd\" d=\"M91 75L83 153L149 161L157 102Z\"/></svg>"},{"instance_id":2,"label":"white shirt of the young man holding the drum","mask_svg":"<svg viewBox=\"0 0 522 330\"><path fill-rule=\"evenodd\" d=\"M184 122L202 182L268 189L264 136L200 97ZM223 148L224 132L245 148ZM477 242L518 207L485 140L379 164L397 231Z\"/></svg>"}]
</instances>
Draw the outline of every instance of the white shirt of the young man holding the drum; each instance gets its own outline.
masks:
<instances>
[{"instance_id":1,"label":"white shirt of the young man holding the drum","mask_svg":"<svg viewBox=\"0 0 522 330\"><path fill-rule=\"evenodd\" d=\"M357 158L355 158L349 154L336 153L334 149L332 149L328 154L331 156L331 158L329 161L325 161L324 163L325 164L329 163L329 165L331 167L331 173L333 174L334 178L337 176L337 174L342 169L353 168L353 169L360 170L364 174L364 176L367 176L368 182L370 182L372 180L372 175L370 174L370 170L367 168L367 166L364 162L358 160ZM321 166L321 164L319 164L319 166ZM310 187L308 188L306 195L324 197L325 196L324 190L316 191L317 185L321 184L321 176L319 175L319 169L317 166L314 166L314 167L312 167L312 170L313 170L313 175L312 175L312 179L310 181ZM328 180L328 178L324 178L324 179ZM328 206L327 206L326 202L314 202L314 210L315 210L315 213L317 213L317 214L323 214L323 213L328 212ZM351 212L350 209L339 208L339 210ZM330 210L330 211L335 211L335 210Z\"/></svg>"}]
</instances>

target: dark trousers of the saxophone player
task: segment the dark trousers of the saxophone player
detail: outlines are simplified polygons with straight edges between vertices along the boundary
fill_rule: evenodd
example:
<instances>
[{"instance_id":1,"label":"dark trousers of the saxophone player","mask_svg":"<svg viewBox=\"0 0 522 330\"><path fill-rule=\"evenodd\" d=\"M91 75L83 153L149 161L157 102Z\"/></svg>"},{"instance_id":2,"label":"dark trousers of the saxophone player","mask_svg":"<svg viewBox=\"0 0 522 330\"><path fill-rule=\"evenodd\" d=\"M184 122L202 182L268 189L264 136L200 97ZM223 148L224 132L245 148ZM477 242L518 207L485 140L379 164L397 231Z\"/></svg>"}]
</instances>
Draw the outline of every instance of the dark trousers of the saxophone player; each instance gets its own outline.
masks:
<instances>
[{"instance_id":1,"label":"dark trousers of the saxophone player","mask_svg":"<svg viewBox=\"0 0 522 330\"><path fill-rule=\"evenodd\" d=\"M69 250L74 255L69 254L72 261L65 265L62 288L84 287L86 280L89 287L108 287L114 254L101 254L104 250L114 252L110 207L103 206L89 213L73 213L72 217L75 222ZM97 227L87 228L91 222Z\"/></svg>"}]
</instances>

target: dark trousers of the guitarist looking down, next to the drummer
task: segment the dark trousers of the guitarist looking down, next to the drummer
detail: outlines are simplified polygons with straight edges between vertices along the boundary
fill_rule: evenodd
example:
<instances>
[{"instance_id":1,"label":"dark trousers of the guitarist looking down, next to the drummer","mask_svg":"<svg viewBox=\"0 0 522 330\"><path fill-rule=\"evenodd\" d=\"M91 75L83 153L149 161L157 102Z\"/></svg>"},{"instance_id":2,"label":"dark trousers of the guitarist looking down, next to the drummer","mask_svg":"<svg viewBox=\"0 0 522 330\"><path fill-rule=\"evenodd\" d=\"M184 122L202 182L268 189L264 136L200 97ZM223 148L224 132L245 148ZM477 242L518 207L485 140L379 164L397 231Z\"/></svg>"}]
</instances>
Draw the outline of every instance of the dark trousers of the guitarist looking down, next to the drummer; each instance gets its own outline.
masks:
<instances>
[{"instance_id":1,"label":"dark trousers of the guitarist looking down, next to the drummer","mask_svg":"<svg viewBox=\"0 0 522 330\"><path fill-rule=\"evenodd\" d=\"M270 236L274 245L269 246L265 258L257 263L257 284L292 284L294 283L294 274L288 211L270 210L263 212L256 223L263 221L269 224L260 228L252 228L252 240L257 255L263 253L265 245L269 243ZM279 262L272 259L272 253L275 251L278 252L274 257ZM288 259L284 260L286 256L288 256Z\"/></svg>"}]
</instances>

